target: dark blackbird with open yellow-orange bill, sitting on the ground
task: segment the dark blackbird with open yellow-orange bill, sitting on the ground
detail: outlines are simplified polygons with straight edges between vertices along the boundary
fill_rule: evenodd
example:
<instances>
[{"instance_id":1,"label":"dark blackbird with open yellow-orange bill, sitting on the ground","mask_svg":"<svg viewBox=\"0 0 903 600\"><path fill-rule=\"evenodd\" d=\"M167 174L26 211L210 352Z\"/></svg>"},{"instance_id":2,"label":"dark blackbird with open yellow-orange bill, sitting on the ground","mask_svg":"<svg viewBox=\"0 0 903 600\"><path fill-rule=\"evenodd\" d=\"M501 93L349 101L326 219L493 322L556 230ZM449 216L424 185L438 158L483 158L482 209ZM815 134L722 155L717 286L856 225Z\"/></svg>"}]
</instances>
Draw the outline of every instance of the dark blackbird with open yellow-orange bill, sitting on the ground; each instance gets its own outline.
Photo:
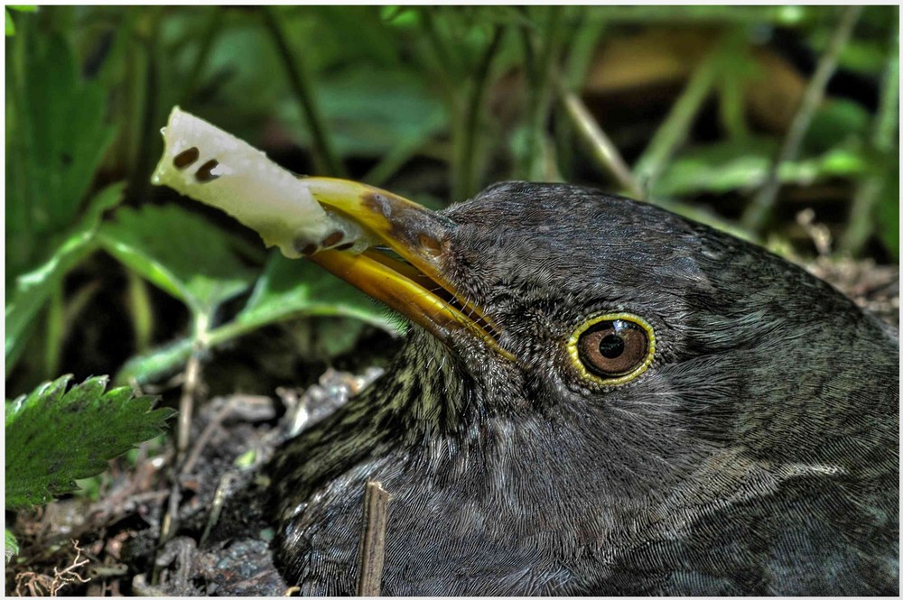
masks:
<instances>
[{"instance_id":1,"label":"dark blackbird with open yellow-orange bill, sitting on the ground","mask_svg":"<svg viewBox=\"0 0 903 600\"><path fill-rule=\"evenodd\" d=\"M414 322L271 465L277 563L384 595L898 595L898 333L654 206L507 182L433 212L322 180L383 250L312 260Z\"/></svg>"}]
</instances>

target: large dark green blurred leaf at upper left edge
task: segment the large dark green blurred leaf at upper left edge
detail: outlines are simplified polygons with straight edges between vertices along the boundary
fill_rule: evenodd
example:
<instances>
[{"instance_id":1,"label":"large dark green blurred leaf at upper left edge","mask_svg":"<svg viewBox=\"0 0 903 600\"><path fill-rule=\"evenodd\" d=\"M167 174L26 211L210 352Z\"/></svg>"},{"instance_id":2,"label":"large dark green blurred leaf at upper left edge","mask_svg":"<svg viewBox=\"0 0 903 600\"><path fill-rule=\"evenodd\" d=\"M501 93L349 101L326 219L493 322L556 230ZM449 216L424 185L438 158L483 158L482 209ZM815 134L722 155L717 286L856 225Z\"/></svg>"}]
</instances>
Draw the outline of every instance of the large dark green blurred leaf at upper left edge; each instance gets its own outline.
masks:
<instances>
[{"instance_id":1,"label":"large dark green blurred leaf at upper left edge","mask_svg":"<svg viewBox=\"0 0 903 600\"><path fill-rule=\"evenodd\" d=\"M54 252L116 133L107 90L79 75L61 36L17 35L7 56L6 267L9 278Z\"/></svg>"}]
</instances>

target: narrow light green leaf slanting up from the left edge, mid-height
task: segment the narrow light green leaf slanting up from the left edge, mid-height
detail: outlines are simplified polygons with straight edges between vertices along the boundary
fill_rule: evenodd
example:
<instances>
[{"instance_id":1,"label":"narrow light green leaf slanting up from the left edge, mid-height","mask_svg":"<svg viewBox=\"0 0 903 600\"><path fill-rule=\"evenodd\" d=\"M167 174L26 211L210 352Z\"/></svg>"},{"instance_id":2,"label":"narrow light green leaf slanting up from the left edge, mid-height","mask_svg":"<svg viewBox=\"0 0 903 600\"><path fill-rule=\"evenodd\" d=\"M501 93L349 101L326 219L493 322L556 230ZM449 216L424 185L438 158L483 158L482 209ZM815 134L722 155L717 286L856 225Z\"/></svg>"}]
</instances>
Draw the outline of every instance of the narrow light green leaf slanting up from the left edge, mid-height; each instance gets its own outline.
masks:
<instances>
[{"instance_id":1,"label":"narrow light green leaf slanting up from the left edge, mid-height","mask_svg":"<svg viewBox=\"0 0 903 600\"><path fill-rule=\"evenodd\" d=\"M94 250L100 218L104 211L122 200L123 189L124 184L116 183L98 192L79 224L62 236L61 244L50 244L55 250L47 262L16 279L13 298L6 304L6 374L21 355L30 326L51 292L61 284L67 272Z\"/></svg>"}]
</instances>

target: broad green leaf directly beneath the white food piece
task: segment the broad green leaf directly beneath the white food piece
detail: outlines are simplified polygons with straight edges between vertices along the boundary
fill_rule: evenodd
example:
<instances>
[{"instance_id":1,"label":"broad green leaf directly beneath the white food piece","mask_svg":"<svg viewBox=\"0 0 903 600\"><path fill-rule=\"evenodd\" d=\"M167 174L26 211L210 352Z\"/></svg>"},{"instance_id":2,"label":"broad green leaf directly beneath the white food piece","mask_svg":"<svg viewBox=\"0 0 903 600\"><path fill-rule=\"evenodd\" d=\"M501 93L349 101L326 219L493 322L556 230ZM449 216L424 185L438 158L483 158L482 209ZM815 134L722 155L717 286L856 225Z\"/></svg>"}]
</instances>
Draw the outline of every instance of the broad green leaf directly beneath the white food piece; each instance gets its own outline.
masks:
<instances>
[{"instance_id":1,"label":"broad green leaf directly beneath the white food piece","mask_svg":"<svg viewBox=\"0 0 903 600\"><path fill-rule=\"evenodd\" d=\"M98 237L108 253L195 314L211 315L253 281L228 234L176 205L119 210Z\"/></svg>"}]
</instances>

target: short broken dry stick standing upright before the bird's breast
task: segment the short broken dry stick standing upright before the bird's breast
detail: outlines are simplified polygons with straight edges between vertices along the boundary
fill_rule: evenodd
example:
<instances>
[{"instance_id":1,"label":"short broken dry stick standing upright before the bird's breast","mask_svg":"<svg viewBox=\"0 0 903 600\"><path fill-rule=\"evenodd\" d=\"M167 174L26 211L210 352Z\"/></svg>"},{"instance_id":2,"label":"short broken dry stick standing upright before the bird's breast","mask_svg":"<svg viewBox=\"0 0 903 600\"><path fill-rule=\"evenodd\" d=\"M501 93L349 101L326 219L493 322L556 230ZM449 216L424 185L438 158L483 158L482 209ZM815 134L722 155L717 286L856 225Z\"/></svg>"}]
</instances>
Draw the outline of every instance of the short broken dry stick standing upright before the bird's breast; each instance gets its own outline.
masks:
<instances>
[{"instance_id":1,"label":"short broken dry stick standing upright before the bird's breast","mask_svg":"<svg viewBox=\"0 0 903 600\"><path fill-rule=\"evenodd\" d=\"M379 595L386 554L389 493L377 481L368 481L364 492L364 531L358 546L358 595Z\"/></svg>"}]
</instances>

